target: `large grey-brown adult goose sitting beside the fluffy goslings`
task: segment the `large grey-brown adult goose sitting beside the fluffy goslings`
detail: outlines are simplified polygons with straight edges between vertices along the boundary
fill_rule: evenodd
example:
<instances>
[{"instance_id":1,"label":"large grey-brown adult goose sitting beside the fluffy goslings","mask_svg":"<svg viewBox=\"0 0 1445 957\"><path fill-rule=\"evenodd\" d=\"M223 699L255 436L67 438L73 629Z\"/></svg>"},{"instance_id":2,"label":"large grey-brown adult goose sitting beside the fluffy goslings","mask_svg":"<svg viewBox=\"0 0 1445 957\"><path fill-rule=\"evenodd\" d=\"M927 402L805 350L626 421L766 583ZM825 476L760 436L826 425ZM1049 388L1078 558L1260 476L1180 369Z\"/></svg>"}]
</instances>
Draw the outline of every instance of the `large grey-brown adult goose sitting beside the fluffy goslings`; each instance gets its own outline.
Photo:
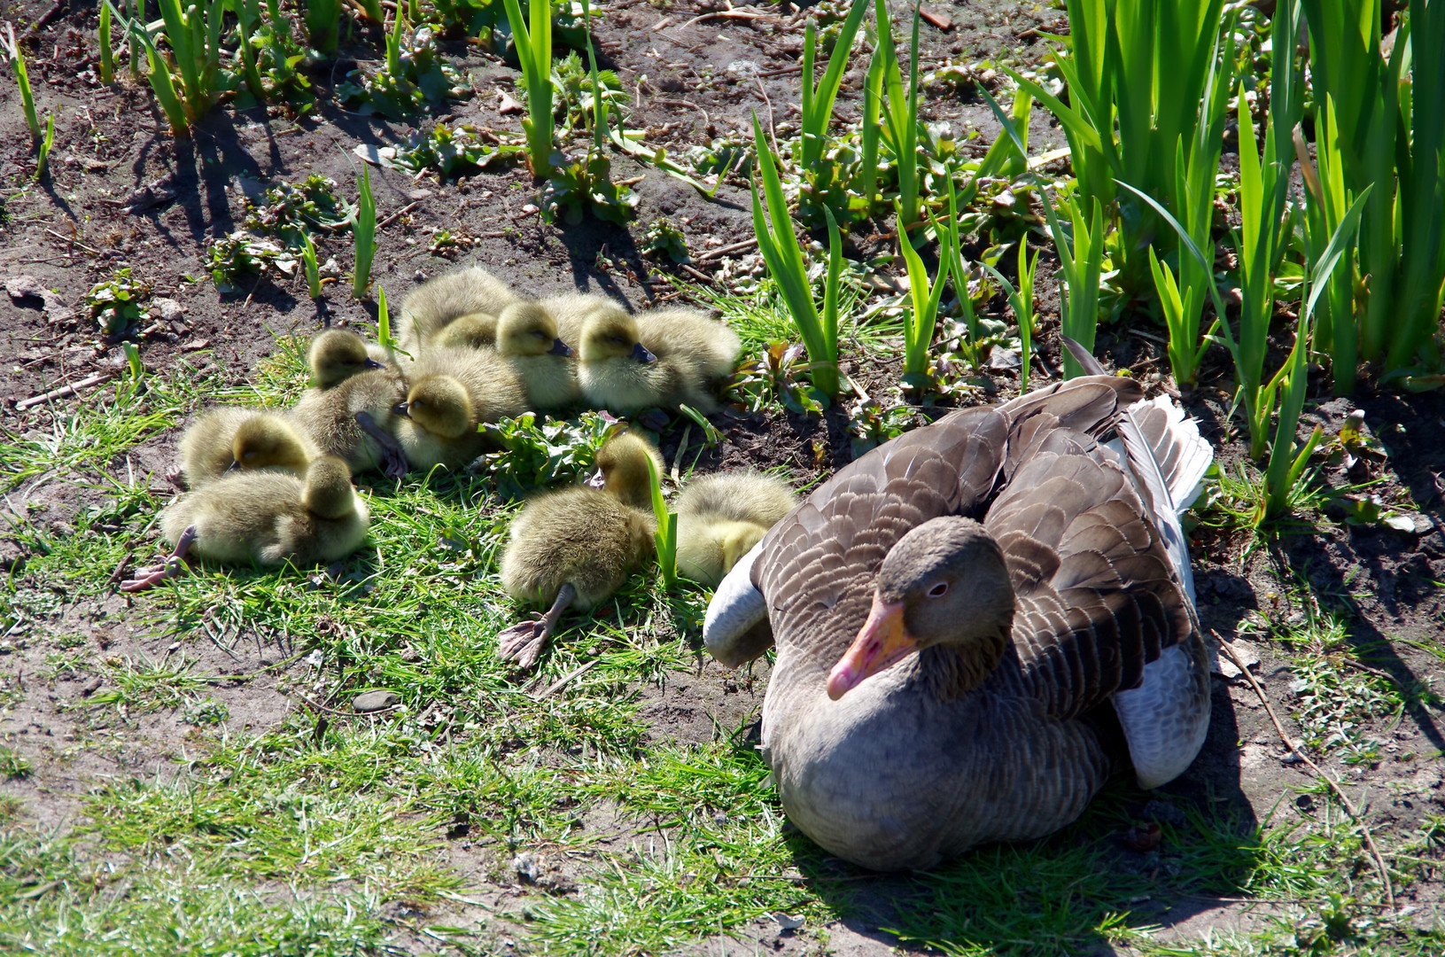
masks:
<instances>
[{"instance_id":1,"label":"large grey-brown adult goose sitting beside the fluffy goslings","mask_svg":"<svg viewBox=\"0 0 1445 957\"><path fill-rule=\"evenodd\" d=\"M897 870L1064 827L1121 758L1105 705L1140 786L1194 760L1209 687L1178 513L1212 451L1140 399L1091 374L954 412L840 470L724 578L704 638L736 665L770 623L763 756L824 849Z\"/></svg>"}]
</instances>

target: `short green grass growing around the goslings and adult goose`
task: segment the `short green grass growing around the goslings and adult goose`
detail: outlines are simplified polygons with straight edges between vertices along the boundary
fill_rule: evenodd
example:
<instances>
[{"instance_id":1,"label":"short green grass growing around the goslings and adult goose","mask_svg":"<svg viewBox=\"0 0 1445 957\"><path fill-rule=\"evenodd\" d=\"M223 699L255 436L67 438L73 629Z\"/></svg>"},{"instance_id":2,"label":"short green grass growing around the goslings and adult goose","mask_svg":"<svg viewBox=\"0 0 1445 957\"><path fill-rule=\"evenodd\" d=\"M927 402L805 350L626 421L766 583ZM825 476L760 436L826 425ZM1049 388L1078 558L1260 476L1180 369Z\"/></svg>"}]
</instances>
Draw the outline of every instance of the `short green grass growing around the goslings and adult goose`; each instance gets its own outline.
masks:
<instances>
[{"instance_id":1,"label":"short green grass growing around the goslings and adult goose","mask_svg":"<svg viewBox=\"0 0 1445 957\"><path fill-rule=\"evenodd\" d=\"M741 299L721 302L738 311L734 325L746 341L766 341L766 309L744 315ZM864 325L854 334L880 331ZM146 392L107 396L51 435L14 437L19 448L0 452L7 487L78 473L98 496L72 520L74 535L20 525L32 558L25 575L0 580L0 623L56 619L68 601L107 594L127 551L149 557L166 496L159 478L147 481L127 464L136 445L212 396L289 402L305 374L303 343L280 340L243 389L192 382L185 370L153 374ZM175 652L103 658L72 633L46 639L49 671L26 681L103 678L69 705L95 733L79 734L65 755L123 742L146 713L171 713L191 727L184 752L168 755L172 771L134 772L74 795L82 812L66 834L35 831L26 807L0 797L0 950L402 953L415 941L403 940L410 931L389 922L383 905L405 901L434 915L420 919L432 931L425 947L490 953L487 927L436 924L449 902L471 896L448 863L449 841L462 833L488 854L481 870L493 879L510 882L522 850L566 862L575 892L527 891L497 915L523 928L519 943L530 953L711 950L717 935L746 938L751 921L777 911L802 915L805 935L832 919L860 919L945 954L1100 945L1285 954L1298 953L1289 950L1296 919L1335 928L1334 951L1319 953L1439 945L1358 904L1376 898L1374 873L1357 828L1328 795L1318 795L1311 815L1286 807L1259 823L1225 805L1191 808L1182 824L1165 825L1157 851L1137 854L1121 849L1120 836L1142 795L1116 782L1046 840L984 847L928 875L864 875L786 823L749 739L756 716L717 727L701 744L672 742L644 720L653 688L666 694L698 668L705 594L668 593L656 574L634 575L591 619L564 617L535 679L517 675L494 653L496 632L522 611L496 577L517 503L464 474L368 486L370 539L338 567L202 565L137 598L127 620L173 638ZM1392 714L1403 692L1337 661L1348 627L1321 614L1274 638L1318 659L1316 671L1296 671L1308 684L1293 710L1309 739L1332 755L1367 758L1364 736L1329 736ZM276 659L262 675L292 704L262 733L228 727L230 695L246 692L224 666L197 664L243 640ZM588 662L559 692L539 697ZM400 704L351 714L351 698L376 688L394 691ZM17 695L23 685L0 675L0 704ZM0 750L0 772L19 781L26 762L13 744ZM581 825L594 818L613 821L611 840ZM1397 886L1433 866L1432 834L1392 857ZM1351 875L1347 883L1341 873ZM1341 891L1341 901L1329 896ZM1211 895L1277 902L1290 918L1237 940L1159 943L1147 901Z\"/></svg>"}]
</instances>

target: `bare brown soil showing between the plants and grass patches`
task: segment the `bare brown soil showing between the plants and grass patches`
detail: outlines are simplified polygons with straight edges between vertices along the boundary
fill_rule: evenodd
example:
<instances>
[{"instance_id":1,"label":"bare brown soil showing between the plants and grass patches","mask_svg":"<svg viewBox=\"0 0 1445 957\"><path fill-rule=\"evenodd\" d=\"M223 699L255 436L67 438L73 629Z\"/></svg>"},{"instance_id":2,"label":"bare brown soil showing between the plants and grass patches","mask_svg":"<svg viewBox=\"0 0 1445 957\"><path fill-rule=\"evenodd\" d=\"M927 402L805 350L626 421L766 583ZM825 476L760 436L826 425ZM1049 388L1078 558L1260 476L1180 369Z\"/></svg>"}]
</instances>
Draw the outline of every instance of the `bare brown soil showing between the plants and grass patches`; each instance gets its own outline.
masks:
<instances>
[{"instance_id":1,"label":"bare brown soil showing between the plants and grass patches","mask_svg":"<svg viewBox=\"0 0 1445 957\"><path fill-rule=\"evenodd\" d=\"M48 1L22 3L19 20L32 23L49 7ZM82 380L94 372L114 373L123 366L120 347L97 337L81 306L90 286L118 266L129 265L137 278L153 283L155 295L173 298L185 309L179 321L139 340L142 359L155 373L201 354L205 363L241 382L259 359L273 351L276 335L309 334L319 328L324 317L312 308L301 279L262 278L240 293L217 292L201 265L204 244L238 227L243 178L293 181L315 172L334 178L350 195L360 169L353 147L393 143L412 129L337 108L328 95L331 72L324 72L314 78L319 93L315 119L295 121L262 110L218 108L189 142L176 142L166 132L149 90L124 84L101 87L87 72L95 43L94 6L61 0L56 7L58 14L26 42L40 113L56 113L52 173L39 185L29 178L33 158L17 91L12 82L0 85L0 130L9 143L0 146L0 182L7 188L6 218L0 228L0 278L33 276L55 289L72 315L48 315L35 296L0 296L0 361L6 369L0 379L0 429L9 435L48 432L68 416L85 415L97 390L82 390L78 398L25 411L17 411L17 400ZM788 68L798 62L801 30L783 29L777 17L704 19L683 27L694 17L720 9L707 0L696 6L621 0L610 4L598 27L605 65L617 69L626 87L637 94L630 126L647 129L649 140L670 152L712 136L749 130L753 110L760 116L770 111L776 124L796 123L798 78ZM1043 46L1036 33L1064 29L1061 12L1040 7L1025 12L1003 0L938 3L935 9L948 13L954 27L948 33L923 27L925 55L931 61L1004 55L1038 61ZM900 14L897 22L903 23ZM376 51L374 45L357 43L344 52L357 61L374 61ZM514 71L462 42L444 43L444 51L470 74L477 91L475 97L455 104L449 119L483 127L520 129L516 116L497 111L497 93L513 90ZM757 77L741 78L737 69L730 72L737 61L756 64ZM715 82L704 80L709 69ZM340 75L342 71L332 72ZM850 74L840 101L844 117L857 114L860 84L861 75ZM959 121L975 124L984 133L983 142L991 142L997 132L987 107L971 94L931 98L926 113L929 119L952 120L955 130ZM1062 145L1062 136L1042 108L1035 110L1032 127L1035 150ZM523 205L535 199L535 189L522 168L483 172L458 182L436 182L435 178L412 182L400 173L373 169L379 215L410 207L381 230L374 275L389 296L399 301L416 282L452 266L426 252L429 230L448 228L475 237L475 246L464 259L486 263L522 292L540 295L585 288L616 293L642 306L678 295L657 280L659 270L665 269L637 253L634 237L647 223L662 215L672 218L682 227L694 254L753 234L750 201L737 182L724 185L717 198L708 201L676 179L621 156L614 158L614 175L620 179L642 176L637 226L631 231L591 218L578 227L551 226L525 213ZM120 201L133 191L162 181L173 189L173 199L134 213L121 208ZM332 241L318 252L322 259L334 254L342 269L348 266L350 243ZM702 263L699 269L717 265ZM1039 285L1043 312L1058 308L1051 273L1052 263L1046 263ZM327 299L327 311L332 322L374 321L374 305L357 304L342 291ZM996 302L994 311L1001 314L1004 306ZM1139 328L1152 335L1162 332L1147 322ZM1101 330L1100 347L1107 361L1131 367L1139 374L1149 376L1163 366L1162 350L1153 340L1123 328ZM1045 348L1046 359L1056 359L1055 346ZM858 376L886 376L871 357L854 356L850 361ZM1188 405L1220 448L1220 461L1233 468L1243 452L1237 435L1227 434L1222 426L1228 387L1228 369L1214 361L1207 369L1204 386ZM998 377L1000 395L1016 389L1016 377ZM1204 626L1234 636L1251 611L1286 617L1295 607L1289 596L1274 597L1280 591L1276 575L1280 571L1286 577L1303 574L1321 601L1351 613L1353 651L1363 662L1387 672L1403 687L1431 682L1441 675L1438 583L1445 581L1445 526L1441 525L1445 516L1441 503L1445 400L1439 395L1402 398L1368 387L1363 387L1353 402L1329 400L1324 390L1315 400L1318 403L1312 402L1306 412L1306 425L1318 421L1327 432L1337 432L1350 409L1366 409L1367 422L1389 451L1387 463L1370 476L1381 483L1374 490L1387 500L1407 493L1419 513L1416 532L1355 528L1321 519L1244 555L1248 536L1243 532L1201 528L1195 532L1195 568ZM717 422L730 441L709 450L698 463L701 470L788 461L799 476L808 476L809 471L829 471L851 457L847 421L838 411L819 419L783 415L775 408L759 415L724 415ZM678 422L663 437L669 461L682 428ZM124 480L127 468L137 474L149 471L155 476L152 484L162 490L160 476L172 464L175 435L172 429L147 441L127 457L129 461L113 463L111 474ZM7 496L6 509L39 528L65 532L84 520L84 506L103 497L95 478L98 476L55 476L22 486ZM1345 481L1340 470L1328 468L1321 480ZM139 535L136 545L144 548ZM33 629L23 640L4 648L9 653L0 690L10 697L0 713L0 740L25 755L35 773L9 781L3 788L25 799L26 814L35 824L53 827L74 821L75 795L95 782L117 775L144 778L159 765L169 765L189 729L178 716L163 713L130 720L117 717L110 726L95 727L69 707L97 690L97 679L88 671L62 674L53 682L30 678L45 671L46 655L62 639L97 658L159 658L172 639L158 633L142 606L127 598L111 594L104 600L72 601L64 587L29 575L25 571L27 548L27 535L19 529L0 541L3 568L17 575L25 593L35 597L35 607L27 609ZM253 638L238 642L234 652L207 643L188 648L188 655L199 656L199 669L237 675L230 687L214 690L214 697L230 708L233 731L264 730L280 721L289 707L276 691L280 672L263 669L290 655L290 649ZM1279 646L1260 642L1259 649L1263 661L1257 674L1276 708L1287 714L1293 698L1287 664L1279 656ZM760 707L766 688L762 677L740 687L734 677L708 662L699 675L675 675L663 687L649 685L644 694L652 703L644 714L655 739L708 740L714 717L736 726ZM1338 762L1328 762L1328 766L1350 782L1353 792L1368 788L1379 830L1405 836L1426 815L1445 814L1445 776L1439 760L1445 753L1445 731L1435 704L1412 705L1396 726L1386 727L1383 720L1376 724L1370 733L1389 742L1384 760L1373 766ZM81 743L88 746L78 747ZM1163 792L1179 805L1222 802L1241 820L1259 821L1282 795L1289 795L1285 802L1289 805L1295 799L1292 788L1311 781L1308 769L1283 758L1282 742L1251 688L1238 679L1215 678L1214 718L1204 753ZM1139 795L1140 805L1146 801L1146 795ZM1283 812L1293 810L1286 807ZM597 827L605 830L611 824L598 821ZM501 893L488 873L487 856L458 846L454 860L464 879L488 893ZM890 938L877 928L889 925L887 888L887 880L880 879L871 912L850 918L847 925L827 928L831 948L845 954L884 951ZM1420 905L1423 924L1435 912L1441 889L1435 877L1407 891L1406 902ZM1220 901L1175 901L1159 908L1155 919L1189 937L1211 927L1246 927L1250 919L1240 906ZM776 924L763 924L759 922L756 935L737 934L736 938L744 945L757 941L770 950L792 947L793 938L780 937Z\"/></svg>"}]
</instances>

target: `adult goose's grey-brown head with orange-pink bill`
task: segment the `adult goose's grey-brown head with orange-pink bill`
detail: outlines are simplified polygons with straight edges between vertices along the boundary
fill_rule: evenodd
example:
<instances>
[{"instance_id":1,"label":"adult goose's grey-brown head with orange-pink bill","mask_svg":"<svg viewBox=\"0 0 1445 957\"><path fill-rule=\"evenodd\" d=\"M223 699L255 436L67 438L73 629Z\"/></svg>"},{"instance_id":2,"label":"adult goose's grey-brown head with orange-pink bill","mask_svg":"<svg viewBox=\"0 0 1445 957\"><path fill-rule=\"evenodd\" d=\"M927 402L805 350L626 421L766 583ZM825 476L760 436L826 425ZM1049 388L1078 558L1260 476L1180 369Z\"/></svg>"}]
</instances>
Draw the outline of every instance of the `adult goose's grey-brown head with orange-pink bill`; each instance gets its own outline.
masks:
<instances>
[{"instance_id":1,"label":"adult goose's grey-brown head with orange-pink bill","mask_svg":"<svg viewBox=\"0 0 1445 957\"><path fill-rule=\"evenodd\" d=\"M900 538L881 568L858 638L828 675L841 698L871 675L932 648L925 666L952 692L994 669L1013 627L1014 594L998 542L972 519L936 518Z\"/></svg>"}]
</instances>

